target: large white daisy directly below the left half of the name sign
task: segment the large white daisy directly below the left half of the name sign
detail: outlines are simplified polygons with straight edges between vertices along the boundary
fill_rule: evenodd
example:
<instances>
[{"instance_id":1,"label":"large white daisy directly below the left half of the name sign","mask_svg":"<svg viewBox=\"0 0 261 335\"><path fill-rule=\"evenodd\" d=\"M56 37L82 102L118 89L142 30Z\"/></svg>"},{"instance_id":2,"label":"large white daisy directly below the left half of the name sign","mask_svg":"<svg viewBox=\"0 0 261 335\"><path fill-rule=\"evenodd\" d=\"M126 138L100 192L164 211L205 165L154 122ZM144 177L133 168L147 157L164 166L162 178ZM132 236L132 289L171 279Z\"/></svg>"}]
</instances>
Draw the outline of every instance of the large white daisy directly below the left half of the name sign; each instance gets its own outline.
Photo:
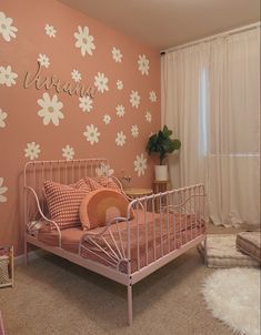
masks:
<instances>
[{"instance_id":1,"label":"large white daisy directly below the left half of the name sign","mask_svg":"<svg viewBox=\"0 0 261 335\"><path fill-rule=\"evenodd\" d=\"M63 113L60 111L63 104L58 100L57 94L51 98L48 93L43 93L42 99L39 99L37 102L42 108L38 112L38 115L43 118L42 123L44 125L48 125L50 122L59 125L59 119L64 119Z\"/></svg>"}]
</instances>

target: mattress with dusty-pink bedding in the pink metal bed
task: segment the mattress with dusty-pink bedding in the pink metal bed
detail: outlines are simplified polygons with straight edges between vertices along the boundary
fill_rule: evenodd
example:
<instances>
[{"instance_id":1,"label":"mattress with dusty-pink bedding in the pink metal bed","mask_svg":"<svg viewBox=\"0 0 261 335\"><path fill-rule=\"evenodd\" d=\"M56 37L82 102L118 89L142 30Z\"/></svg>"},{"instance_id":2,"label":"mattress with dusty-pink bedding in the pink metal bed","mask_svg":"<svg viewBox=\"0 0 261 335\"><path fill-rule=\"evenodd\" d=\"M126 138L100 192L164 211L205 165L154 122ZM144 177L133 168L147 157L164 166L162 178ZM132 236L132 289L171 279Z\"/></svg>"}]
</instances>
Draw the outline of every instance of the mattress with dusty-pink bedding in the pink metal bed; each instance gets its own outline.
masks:
<instances>
[{"instance_id":1,"label":"mattress with dusty-pink bedding in the pink metal bed","mask_svg":"<svg viewBox=\"0 0 261 335\"><path fill-rule=\"evenodd\" d=\"M144 222L147 222L147 224ZM185 243L205 232L204 221L199 221L195 215L153 214L142 211L135 211L134 219L130 221L130 227L132 273L169 252L180 248ZM139 241L137 235L138 230ZM82 247L80 248L80 255L82 257L119 268L121 272L127 273L127 262L121 262L119 267L117 267L116 263L111 264L111 250L113 250L116 254L119 254L116 243L121 251L121 258L127 258L127 223L120 222L118 225L111 224L110 232L112 235L109 231L100 235L103 231L104 226L88 232L82 231L81 227L61 230L61 247L78 254L82 240ZM145 238L147 236L148 238ZM41 227L36 237L47 245L59 246L59 234L57 231ZM145 241L148 241L148 243ZM109 256L102 252L101 248L109 253ZM138 258L140 261L138 261Z\"/></svg>"}]
</instances>

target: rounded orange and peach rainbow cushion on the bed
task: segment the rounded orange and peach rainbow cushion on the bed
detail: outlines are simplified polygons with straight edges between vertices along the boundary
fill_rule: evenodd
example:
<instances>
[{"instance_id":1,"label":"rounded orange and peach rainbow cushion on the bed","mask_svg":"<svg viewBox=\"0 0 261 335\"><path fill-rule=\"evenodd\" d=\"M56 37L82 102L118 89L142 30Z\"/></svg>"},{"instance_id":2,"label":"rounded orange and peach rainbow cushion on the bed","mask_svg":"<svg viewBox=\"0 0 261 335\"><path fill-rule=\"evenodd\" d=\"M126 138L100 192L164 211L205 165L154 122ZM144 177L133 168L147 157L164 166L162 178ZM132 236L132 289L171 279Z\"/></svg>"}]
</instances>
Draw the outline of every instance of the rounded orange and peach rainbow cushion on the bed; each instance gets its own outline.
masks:
<instances>
[{"instance_id":1,"label":"rounded orange and peach rainbow cushion on the bed","mask_svg":"<svg viewBox=\"0 0 261 335\"><path fill-rule=\"evenodd\" d=\"M92 230L106 225L113 217L127 217L128 206L129 201L118 191L100 189L90 192L80 205L82 229Z\"/></svg>"}]
</instances>

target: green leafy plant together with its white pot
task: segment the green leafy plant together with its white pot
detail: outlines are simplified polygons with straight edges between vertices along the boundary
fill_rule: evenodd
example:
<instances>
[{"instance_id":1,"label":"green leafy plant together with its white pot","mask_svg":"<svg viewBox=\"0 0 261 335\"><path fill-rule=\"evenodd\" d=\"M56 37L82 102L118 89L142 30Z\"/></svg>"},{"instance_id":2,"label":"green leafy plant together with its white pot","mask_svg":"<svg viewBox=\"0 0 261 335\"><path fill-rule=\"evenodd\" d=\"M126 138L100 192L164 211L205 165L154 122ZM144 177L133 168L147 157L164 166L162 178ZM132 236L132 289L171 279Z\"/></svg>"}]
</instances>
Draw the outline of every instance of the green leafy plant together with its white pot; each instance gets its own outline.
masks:
<instances>
[{"instance_id":1,"label":"green leafy plant together with its white pot","mask_svg":"<svg viewBox=\"0 0 261 335\"><path fill-rule=\"evenodd\" d=\"M158 154L160 159L160 165L155 165L155 181L168 180L168 165L163 164L167 155L175 150L179 150L181 142L178 139L171 139L172 131L167 125L163 126L158 133L149 138L147 144L147 152L149 155Z\"/></svg>"}]
</instances>

